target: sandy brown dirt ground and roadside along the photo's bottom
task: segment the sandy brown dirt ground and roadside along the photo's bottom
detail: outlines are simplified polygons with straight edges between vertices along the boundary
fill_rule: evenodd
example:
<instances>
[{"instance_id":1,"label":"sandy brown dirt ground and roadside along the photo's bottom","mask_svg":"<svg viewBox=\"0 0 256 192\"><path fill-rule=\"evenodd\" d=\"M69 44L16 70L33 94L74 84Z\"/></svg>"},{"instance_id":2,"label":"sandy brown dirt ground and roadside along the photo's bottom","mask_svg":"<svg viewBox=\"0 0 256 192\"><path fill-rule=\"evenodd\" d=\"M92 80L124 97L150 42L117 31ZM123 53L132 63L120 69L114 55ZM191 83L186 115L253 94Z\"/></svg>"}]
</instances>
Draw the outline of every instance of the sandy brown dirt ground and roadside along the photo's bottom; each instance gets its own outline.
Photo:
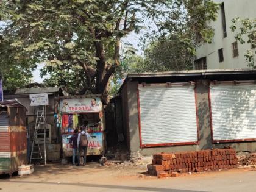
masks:
<instances>
[{"instance_id":1,"label":"sandy brown dirt ground and roadside along the photo's bottom","mask_svg":"<svg viewBox=\"0 0 256 192\"><path fill-rule=\"evenodd\" d=\"M0 179L0 191L255 191L256 169L239 168L158 179L145 165L40 165L30 176ZM140 177L143 175L143 177Z\"/></svg>"}]
</instances>

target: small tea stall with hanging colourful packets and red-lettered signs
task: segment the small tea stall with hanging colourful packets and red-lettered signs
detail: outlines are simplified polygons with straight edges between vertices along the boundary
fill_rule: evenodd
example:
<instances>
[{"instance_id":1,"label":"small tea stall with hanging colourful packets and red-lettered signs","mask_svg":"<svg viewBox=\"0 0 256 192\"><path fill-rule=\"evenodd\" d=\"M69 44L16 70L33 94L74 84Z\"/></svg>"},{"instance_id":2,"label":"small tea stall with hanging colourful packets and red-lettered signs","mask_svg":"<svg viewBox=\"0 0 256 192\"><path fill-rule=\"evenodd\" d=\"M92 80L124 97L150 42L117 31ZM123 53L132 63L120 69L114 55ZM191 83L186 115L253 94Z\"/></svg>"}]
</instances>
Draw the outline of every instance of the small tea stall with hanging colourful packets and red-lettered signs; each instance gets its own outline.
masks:
<instances>
[{"instance_id":1,"label":"small tea stall with hanging colourful packets and red-lettered signs","mask_svg":"<svg viewBox=\"0 0 256 192\"><path fill-rule=\"evenodd\" d=\"M104 155L105 118L99 96L60 97L58 100L57 126L62 135L63 157L72 156L69 140L75 129L80 132L83 128L90 134L87 155Z\"/></svg>"}]
</instances>

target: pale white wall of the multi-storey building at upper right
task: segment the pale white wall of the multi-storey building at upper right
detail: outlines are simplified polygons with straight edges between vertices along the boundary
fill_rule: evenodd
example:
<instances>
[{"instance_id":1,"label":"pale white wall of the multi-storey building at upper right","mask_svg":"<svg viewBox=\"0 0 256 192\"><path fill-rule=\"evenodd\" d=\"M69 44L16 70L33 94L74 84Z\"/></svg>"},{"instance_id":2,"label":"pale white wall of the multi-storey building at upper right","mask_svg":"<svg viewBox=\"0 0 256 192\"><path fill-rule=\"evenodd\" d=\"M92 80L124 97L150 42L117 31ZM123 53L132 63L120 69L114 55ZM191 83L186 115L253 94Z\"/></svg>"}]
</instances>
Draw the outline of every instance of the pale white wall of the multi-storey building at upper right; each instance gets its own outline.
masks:
<instances>
[{"instance_id":1,"label":"pale white wall of the multi-storey building at upper right","mask_svg":"<svg viewBox=\"0 0 256 192\"><path fill-rule=\"evenodd\" d=\"M235 42L235 32L230 30L233 18L256 18L256 0L213 0L224 2L227 37L223 38L221 10L219 9L218 19L210 23L215 29L215 36L211 44L204 44L197 49L196 58L207 57L207 69L244 69L248 68L244 58L247 49L251 44L238 43L239 56L233 58L232 43ZM224 61L219 63L218 49L223 48Z\"/></svg>"}]
</instances>

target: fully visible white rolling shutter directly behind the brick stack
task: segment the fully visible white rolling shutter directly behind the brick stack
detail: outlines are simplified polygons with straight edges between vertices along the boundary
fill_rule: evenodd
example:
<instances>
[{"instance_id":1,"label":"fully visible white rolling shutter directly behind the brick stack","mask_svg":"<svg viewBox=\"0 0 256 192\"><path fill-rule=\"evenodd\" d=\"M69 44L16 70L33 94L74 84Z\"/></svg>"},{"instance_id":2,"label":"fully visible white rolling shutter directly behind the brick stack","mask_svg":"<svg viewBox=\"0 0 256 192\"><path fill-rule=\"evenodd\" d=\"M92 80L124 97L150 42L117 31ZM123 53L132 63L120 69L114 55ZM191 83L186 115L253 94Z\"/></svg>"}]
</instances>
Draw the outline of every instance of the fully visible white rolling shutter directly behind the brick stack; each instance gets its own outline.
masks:
<instances>
[{"instance_id":1,"label":"fully visible white rolling shutter directly behind the brick stack","mask_svg":"<svg viewBox=\"0 0 256 192\"><path fill-rule=\"evenodd\" d=\"M196 144L194 85L139 86L141 146Z\"/></svg>"}]
</instances>

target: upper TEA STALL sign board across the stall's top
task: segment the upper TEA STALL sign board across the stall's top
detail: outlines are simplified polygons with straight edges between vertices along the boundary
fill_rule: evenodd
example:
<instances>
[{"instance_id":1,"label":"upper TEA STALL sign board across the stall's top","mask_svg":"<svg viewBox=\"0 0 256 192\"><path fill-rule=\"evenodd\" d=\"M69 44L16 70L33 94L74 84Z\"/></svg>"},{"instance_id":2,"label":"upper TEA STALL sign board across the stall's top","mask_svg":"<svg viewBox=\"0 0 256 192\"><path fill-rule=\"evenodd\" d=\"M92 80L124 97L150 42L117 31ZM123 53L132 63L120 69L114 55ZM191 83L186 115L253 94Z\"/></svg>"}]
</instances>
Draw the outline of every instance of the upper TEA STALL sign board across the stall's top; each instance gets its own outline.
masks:
<instances>
[{"instance_id":1,"label":"upper TEA STALL sign board across the stall's top","mask_svg":"<svg viewBox=\"0 0 256 192\"><path fill-rule=\"evenodd\" d=\"M60 100L60 112L85 113L100 112L102 104L100 98L71 98Z\"/></svg>"}]
</instances>

